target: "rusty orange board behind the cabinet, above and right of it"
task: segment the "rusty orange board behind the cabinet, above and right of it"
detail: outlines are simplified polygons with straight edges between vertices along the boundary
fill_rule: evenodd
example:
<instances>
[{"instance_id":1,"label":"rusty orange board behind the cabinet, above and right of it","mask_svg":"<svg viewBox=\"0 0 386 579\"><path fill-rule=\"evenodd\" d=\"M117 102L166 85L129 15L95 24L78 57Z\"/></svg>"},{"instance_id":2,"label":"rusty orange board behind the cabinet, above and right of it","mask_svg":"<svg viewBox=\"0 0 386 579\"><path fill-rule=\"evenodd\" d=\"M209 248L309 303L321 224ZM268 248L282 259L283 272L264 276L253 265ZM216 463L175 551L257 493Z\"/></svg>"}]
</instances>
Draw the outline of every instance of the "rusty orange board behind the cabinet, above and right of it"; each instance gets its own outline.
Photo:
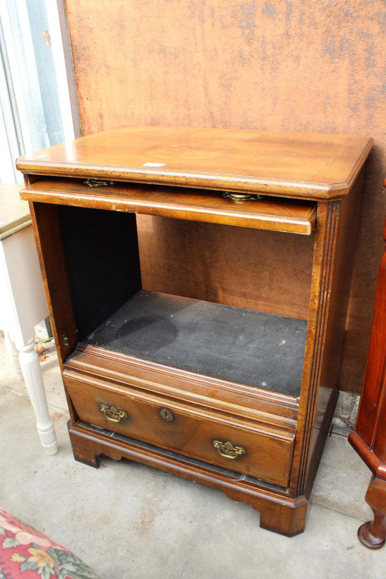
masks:
<instances>
[{"instance_id":1,"label":"rusty orange board behind the cabinet, above and right of it","mask_svg":"<svg viewBox=\"0 0 386 579\"><path fill-rule=\"evenodd\" d=\"M66 0L83 134L165 124L371 135L340 387L359 391L386 211L382 0Z\"/></svg>"}]
</instances>

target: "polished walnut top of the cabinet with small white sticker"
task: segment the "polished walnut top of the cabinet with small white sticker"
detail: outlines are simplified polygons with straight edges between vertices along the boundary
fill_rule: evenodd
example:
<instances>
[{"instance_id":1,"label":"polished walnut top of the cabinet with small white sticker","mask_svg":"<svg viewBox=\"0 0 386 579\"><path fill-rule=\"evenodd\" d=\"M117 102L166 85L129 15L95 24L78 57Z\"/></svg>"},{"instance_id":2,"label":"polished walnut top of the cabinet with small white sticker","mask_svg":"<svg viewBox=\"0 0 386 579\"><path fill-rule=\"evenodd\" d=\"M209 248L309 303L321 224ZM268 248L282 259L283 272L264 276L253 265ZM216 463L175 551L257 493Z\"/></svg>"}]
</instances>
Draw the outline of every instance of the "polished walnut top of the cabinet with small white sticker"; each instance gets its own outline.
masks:
<instances>
[{"instance_id":1,"label":"polished walnut top of the cabinet with small white sticker","mask_svg":"<svg viewBox=\"0 0 386 579\"><path fill-rule=\"evenodd\" d=\"M111 178L329 199L348 193L369 137L117 127L17 160L23 173Z\"/></svg>"}]
</instances>

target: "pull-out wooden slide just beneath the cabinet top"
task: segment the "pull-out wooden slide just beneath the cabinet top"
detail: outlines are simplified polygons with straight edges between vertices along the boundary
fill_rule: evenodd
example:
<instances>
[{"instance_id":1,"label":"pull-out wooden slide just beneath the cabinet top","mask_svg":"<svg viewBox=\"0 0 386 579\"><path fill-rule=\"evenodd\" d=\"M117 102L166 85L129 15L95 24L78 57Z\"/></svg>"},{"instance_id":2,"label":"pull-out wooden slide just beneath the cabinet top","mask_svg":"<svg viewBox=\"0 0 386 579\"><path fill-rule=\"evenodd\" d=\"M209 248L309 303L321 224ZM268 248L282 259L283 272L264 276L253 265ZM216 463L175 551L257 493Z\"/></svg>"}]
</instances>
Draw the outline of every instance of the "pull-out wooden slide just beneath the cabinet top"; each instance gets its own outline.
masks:
<instances>
[{"instance_id":1,"label":"pull-out wooden slide just beneath the cabinet top","mask_svg":"<svg viewBox=\"0 0 386 579\"><path fill-rule=\"evenodd\" d=\"M115 183L107 187L89 188L79 179L36 181L21 191L42 203L78 207L111 208L143 215L161 215L191 221L227 223L253 229L267 229L310 235L317 222L316 203L295 199L263 197L234 202L222 193L201 189Z\"/></svg>"}]
</instances>

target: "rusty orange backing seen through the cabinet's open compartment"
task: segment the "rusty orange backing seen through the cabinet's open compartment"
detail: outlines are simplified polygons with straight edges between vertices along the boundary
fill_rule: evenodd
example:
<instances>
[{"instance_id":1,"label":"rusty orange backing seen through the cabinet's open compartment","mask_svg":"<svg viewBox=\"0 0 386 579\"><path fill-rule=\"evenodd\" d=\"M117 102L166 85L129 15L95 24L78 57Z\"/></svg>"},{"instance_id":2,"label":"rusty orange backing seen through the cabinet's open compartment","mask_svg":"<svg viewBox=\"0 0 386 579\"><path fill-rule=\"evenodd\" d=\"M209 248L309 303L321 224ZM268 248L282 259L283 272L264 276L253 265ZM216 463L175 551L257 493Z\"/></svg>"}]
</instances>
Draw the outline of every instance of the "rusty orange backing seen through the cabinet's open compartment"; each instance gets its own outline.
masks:
<instances>
[{"instance_id":1,"label":"rusty orange backing seen through the cabinet's open compartment","mask_svg":"<svg viewBox=\"0 0 386 579\"><path fill-rule=\"evenodd\" d=\"M142 287L307 320L314 235L138 215Z\"/></svg>"}]
</instances>

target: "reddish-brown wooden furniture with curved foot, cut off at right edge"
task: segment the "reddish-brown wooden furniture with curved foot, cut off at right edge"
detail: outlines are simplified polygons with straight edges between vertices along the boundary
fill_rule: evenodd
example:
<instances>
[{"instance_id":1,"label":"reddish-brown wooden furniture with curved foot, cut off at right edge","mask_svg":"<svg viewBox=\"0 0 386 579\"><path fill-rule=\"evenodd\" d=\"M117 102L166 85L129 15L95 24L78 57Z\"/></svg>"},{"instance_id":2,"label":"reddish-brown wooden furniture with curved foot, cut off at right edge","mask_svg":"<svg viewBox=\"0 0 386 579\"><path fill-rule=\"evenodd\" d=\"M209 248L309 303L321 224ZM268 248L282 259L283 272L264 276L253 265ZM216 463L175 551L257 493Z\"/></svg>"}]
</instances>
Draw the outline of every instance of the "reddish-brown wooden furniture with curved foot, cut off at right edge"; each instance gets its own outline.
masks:
<instances>
[{"instance_id":1,"label":"reddish-brown wooden furniture with curved foot, cut off at right edge","mask_svg":"<svg viewBox=\"0 0 386 579\"><path fill-rule=\"evenodd\" d=\"M385 181L386 187L386 181ZM383 230L386 244L386 221ZM355 428L348 441L372 471L365 500L373 521L358 529L359 541L380 549L386 540L386 250L378 269L378 283L369 354Z\"/></svg>"}]
</instances>

